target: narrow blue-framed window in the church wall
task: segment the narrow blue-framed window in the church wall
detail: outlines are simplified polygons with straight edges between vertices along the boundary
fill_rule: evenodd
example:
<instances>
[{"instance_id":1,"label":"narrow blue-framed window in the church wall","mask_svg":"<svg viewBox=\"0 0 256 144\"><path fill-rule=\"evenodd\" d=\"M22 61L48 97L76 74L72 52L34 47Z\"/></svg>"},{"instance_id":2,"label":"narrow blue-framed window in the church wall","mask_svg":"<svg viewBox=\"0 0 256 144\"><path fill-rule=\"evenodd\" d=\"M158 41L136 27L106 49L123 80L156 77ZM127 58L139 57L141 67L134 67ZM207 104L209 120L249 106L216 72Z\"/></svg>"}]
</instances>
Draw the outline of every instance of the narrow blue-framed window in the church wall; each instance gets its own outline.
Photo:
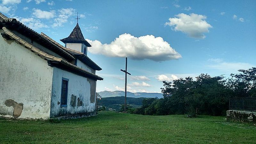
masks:
<instances>
[{"instance_id":1,"label":"narrow blue-framed window in the church wall","mask_svg":"<svg viewBox=\"0 0 256 144\"><path fill-rule=\"evenodd\" d=\"M62 77L60 107L67 107L68 102L68 79Z\"/></svg>"}]
</instances>

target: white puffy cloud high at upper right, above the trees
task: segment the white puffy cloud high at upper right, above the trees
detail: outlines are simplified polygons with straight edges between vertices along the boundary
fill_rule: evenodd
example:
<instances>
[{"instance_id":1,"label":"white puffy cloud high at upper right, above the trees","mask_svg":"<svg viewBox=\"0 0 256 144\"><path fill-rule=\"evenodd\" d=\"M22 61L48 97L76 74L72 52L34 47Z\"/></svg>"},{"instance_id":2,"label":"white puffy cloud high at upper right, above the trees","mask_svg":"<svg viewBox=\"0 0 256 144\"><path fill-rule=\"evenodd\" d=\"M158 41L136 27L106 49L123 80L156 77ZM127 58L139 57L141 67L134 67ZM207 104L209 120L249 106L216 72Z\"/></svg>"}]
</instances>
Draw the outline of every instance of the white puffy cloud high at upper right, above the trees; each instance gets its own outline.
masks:
<instances>
[{"instance_id":1,"label":"white puffy cloud high at upper right, above the trees","mask_svg":"<svg viewBox=\"0 0 256 144\"><path fill-rule=\"evenodd\" d=\"M212 26L205 21L207 17L200 14L190 13L189 15L180 13L176 17L170 18L165 25L174 27L172 30L182 31L190 37L205 38L203 33L208 33Z\"/></svg>"}]
</instances>

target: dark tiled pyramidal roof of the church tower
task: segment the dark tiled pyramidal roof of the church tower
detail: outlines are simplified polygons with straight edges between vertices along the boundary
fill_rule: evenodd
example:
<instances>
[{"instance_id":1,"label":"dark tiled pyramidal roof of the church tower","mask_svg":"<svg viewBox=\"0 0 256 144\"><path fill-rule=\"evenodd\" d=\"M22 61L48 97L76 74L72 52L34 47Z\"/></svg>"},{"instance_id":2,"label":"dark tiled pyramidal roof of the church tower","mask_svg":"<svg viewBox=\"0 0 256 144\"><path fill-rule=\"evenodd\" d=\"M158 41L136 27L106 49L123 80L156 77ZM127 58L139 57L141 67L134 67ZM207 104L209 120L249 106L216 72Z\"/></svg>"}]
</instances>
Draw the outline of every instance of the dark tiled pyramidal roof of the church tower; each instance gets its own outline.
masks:
<instances>
[{"instance_id":1,"label":"dark tiled pyramidal roof of the church tower","mask_svg":"<svg viewBox=\"0 0 256 144\"><path fill-rule=\"evenodd\" d=\"M92 46L84 39L84 36L82 34L82 31L78 23L76 24L76 27L73 29L71 34L68 37L61 39L60 41L65 44L66 43L84 43L87 47Z\"/></svg>"}]
</instances>

